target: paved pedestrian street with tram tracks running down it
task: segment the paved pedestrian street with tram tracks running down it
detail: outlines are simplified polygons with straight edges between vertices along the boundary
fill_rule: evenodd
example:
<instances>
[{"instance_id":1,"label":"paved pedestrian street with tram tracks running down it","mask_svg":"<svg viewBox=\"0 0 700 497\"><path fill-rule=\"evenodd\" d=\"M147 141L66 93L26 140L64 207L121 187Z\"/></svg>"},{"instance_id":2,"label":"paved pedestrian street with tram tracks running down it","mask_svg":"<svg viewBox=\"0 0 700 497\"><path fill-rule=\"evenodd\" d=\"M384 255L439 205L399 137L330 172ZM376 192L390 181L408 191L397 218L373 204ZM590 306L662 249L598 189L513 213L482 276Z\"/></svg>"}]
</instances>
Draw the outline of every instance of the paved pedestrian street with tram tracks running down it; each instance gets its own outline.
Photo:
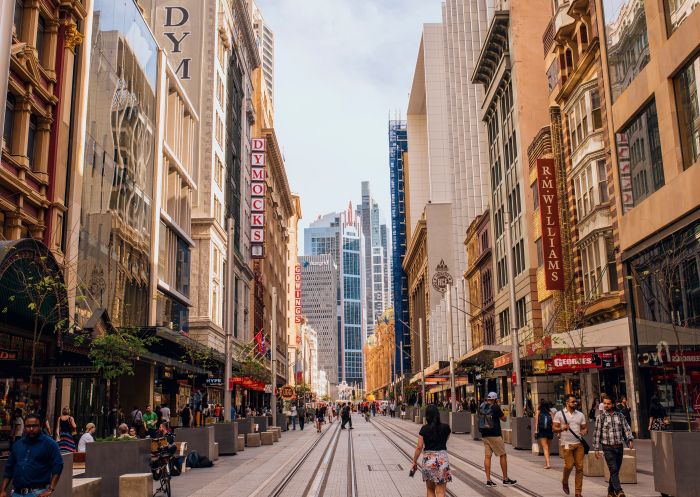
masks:
<instances>
[{"instance_id":1,"label":"paved pedestrian street with tram tracks running down it","mask_svg":"<svg viewBox=\"0 0 700 497\"><path fill-rule=\"evenodd\" d=\"M382 496L425 495L420 473L409 478L410 454L420 426L383 416L365 422L353 416L354 430L340 430L336 421L325 424L322 435L313 426L285 432L275 446L246 448L235 456L221 457L209 469L189 470L173 479L174 497L268 496ZM318 442L316 445L314 445ZM552 457L552 469L542 468L542 457L507 445L509 473L515 487L484 486L483 445L470 435L452 435L448 442L453 481L448 494L455 496L555 497L561 490L563 460ZM651 447L637 445L637 480L623 485L630 497L651 497ZM573 475L571 477L573 483ZM584 495L603 496L603 478L585 478Z\"/></svg>"}]
</instances>

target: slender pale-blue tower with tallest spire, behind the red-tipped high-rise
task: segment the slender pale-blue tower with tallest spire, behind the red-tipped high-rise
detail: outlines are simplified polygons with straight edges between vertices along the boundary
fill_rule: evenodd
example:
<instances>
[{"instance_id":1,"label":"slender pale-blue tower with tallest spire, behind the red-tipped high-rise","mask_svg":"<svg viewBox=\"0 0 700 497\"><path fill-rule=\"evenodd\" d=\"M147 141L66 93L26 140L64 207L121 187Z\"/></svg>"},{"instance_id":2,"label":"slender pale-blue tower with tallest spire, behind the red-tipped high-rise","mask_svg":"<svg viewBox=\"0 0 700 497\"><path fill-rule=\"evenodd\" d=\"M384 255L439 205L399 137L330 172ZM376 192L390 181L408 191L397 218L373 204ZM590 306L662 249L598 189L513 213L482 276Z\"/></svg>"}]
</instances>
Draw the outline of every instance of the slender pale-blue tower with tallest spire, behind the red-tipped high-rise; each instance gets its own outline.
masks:
<instances>
[{"instance_id":1,"label":"slender pale-blue tower with tallest spire, behind the red-tipped high-rise","mask_svg":"<svg viewBox=\"0 0 700 497\"><path fill-rule=\"evenodd\" d=\"M362 201L356 212L362 220L362 234L365 238L366 336L369 336L374 332L377 318L387 309L391 293L388 285L388 234L386 224L382 222L379 204L371 195L369 181L362 182Z\"/></svg>"}]
</instances>

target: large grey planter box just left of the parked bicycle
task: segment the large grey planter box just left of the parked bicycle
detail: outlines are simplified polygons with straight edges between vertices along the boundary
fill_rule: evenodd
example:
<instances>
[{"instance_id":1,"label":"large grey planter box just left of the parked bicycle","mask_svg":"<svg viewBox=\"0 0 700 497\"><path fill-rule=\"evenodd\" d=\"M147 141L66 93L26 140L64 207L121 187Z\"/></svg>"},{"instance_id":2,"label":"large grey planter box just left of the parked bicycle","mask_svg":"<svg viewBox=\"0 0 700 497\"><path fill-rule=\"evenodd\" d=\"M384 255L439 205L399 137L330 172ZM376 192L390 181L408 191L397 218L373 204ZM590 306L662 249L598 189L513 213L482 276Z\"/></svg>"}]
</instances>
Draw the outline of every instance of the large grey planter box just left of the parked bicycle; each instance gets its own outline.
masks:
<instances>
[{"instance_id":1,"label":"large grey planter box just left of the parked bicycle","mask_svg":"<svg viewBox=\"0 0 700 497\"><path fill-rule=\"evenodd\" d=\"M93 442L85 446L85 477L102 478L102 497L119 497L119 477L150 474L150 461L150 439Z\"/></svg>"}]
</instances>

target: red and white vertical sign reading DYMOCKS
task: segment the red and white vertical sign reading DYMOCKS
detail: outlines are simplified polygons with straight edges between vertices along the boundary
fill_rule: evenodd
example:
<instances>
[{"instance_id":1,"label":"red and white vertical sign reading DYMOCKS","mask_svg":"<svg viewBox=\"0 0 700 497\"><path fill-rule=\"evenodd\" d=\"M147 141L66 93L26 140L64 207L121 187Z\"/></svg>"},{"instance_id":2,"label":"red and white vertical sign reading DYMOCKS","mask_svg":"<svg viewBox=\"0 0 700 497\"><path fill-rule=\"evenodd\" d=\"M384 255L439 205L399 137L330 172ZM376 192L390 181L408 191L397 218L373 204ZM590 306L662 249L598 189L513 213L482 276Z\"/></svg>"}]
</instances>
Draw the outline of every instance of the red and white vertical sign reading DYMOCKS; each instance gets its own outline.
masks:
<instances>
[{"instance_id":1,"label":"red and white vertical sign reading DYMOCKS","mask_svg":"<svg viewBox=\"0 0 700 497\"><path fill-rule=\"evenodd\" d=\"M265 139L250 140L250 252L265 257Z\"/></svg>"}]
</instances>

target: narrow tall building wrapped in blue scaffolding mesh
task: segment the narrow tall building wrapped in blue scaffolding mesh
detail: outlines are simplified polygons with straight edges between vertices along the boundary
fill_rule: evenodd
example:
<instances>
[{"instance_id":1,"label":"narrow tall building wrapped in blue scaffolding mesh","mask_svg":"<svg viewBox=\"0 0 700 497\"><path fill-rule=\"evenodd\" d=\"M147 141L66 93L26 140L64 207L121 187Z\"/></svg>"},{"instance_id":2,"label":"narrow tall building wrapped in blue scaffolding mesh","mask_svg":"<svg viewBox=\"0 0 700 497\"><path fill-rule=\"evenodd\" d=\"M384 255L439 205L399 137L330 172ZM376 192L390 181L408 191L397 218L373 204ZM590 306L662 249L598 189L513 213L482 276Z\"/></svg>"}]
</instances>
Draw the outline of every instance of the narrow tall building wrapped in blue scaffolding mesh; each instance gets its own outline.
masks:
<instances>
[{"instance_id":1,"label":"narrow tall building wrapped in blue scaffolding mesh","mask_svg":"<svg viewBox=\"0 0 700 497\"><path fill-rule=\"evenodd\" d=\"M411 331L408 328L408 278L401 265L406 254L406 183L405 160L408 154L406 121L389 121L389 174L391 187L391 239L392 250L391 305L394 308L394 332L396 339L396 364L403 360L404 372L411 369ZM403 343L403 352L400 346Z\"/></svg>"}]
</instances>

